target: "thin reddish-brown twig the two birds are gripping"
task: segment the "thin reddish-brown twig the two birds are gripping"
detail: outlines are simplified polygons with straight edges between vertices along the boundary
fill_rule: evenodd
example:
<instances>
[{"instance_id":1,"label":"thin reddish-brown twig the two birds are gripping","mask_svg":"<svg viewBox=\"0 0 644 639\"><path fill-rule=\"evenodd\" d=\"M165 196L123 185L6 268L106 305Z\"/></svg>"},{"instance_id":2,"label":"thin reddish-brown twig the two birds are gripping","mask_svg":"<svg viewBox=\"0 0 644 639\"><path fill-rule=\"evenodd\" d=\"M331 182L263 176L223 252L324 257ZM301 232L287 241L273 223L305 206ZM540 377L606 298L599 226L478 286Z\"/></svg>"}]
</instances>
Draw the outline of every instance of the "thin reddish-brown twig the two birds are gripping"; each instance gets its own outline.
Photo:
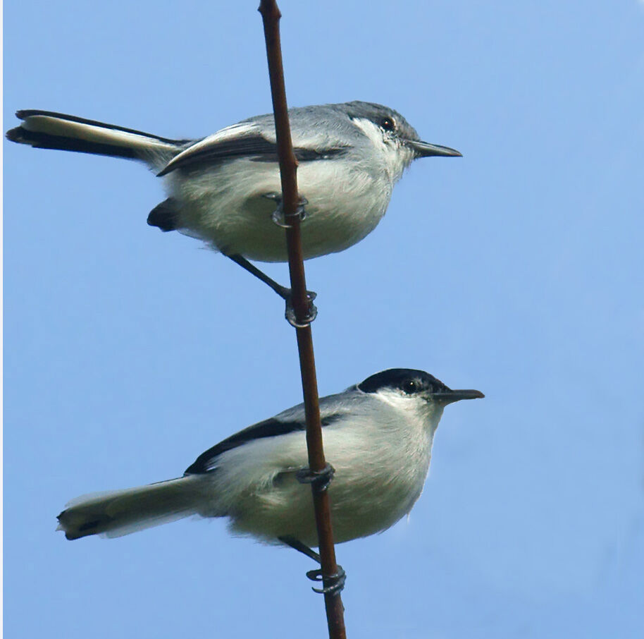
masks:
<instances>
[{"instance_id":1,"label":"thin reddish-brown twig the two birds are gripping","mask_svg":"<svg viewBox=\"0 0 644 639\"><path fill-rule=\"evenodd\" d=\"M271 96L275 113L275 132L277 135L278 157L280 160L280 178L282 182L282 205L285 219L291 226L286 229L288 250L288 268L290 273L292 304L299 324L304 322L309 312L309 299L306 296L306 279L304 277L304 259L302 238L299 229L299 217L296 214L299 205L297 194L297 160L288 120L284 71L282 66L282 49L280 44L280 18L282 14L275 0L261 0L259 13L264 20L264 37L266 38L266 56L268 57L268 75L271 79ZM296 328L299 367L302 374L302 391L304 393L304 412L306 413L306 446L309 451L309 468L321 471L326 467L322 447L322 425L318 401L318 383L313 352L313 338L310 325ZM322 574L333 576L338 571L333 546L328 492L311 484L318 528ZM340 593L324 595L329 637L345 639L344 607Z\"/></svg>"}]
</instances>

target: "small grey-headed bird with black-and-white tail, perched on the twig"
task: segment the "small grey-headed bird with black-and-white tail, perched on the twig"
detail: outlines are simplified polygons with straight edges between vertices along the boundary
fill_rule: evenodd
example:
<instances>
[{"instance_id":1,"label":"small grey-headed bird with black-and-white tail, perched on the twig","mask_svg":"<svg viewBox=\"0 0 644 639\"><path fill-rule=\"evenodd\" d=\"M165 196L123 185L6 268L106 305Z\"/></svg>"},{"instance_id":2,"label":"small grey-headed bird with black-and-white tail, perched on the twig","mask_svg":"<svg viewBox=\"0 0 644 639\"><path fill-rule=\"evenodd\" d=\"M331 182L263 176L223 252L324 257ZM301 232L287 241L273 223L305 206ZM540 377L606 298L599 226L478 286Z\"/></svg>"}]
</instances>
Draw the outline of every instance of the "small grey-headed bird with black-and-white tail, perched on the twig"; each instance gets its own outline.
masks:
<instances>
[{"instance_id":1,"label":"small grey-headed bird with black-and-white tail, perched on the twig","mask_svg":"<svg viewBox=\"0 0 644 639\"><path fill-rule=\"evenodd\" d=\"M273 114L247 118L199 140L171 140L77 116L17 111L8 140L36 148L140 160L165 181L168 197L147 222L204 241L288 301L290 289L254 267L287 262ZM414 159L459 157L422 142L394 109L343 102L289 110L297 180L306 219L305 260L349 248L382 219L392 189Z\"/></svg>"}]
</instances>

